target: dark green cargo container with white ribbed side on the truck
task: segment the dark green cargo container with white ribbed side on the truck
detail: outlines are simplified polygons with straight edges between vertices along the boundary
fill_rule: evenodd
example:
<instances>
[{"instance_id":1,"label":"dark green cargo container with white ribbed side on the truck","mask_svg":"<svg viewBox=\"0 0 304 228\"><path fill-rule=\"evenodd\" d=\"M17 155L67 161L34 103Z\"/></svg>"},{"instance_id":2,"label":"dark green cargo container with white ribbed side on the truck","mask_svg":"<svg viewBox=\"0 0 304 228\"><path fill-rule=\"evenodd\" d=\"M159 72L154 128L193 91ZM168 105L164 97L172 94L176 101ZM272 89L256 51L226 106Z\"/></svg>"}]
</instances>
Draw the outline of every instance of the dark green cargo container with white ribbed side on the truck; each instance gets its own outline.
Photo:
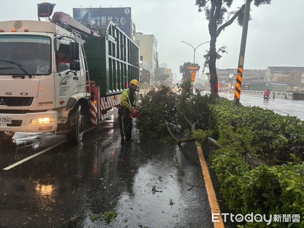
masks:
<instances>
[{"instance_id":1,"label":"dark green cargo container with white ribbed side on the truck","mask_svg":"<svg viewBox=\"0 0 304 228\"><path fill-rule=\"evenodd\" d=\"M90 80L101 95L122 93L132 79L139 80L139 47L112 22L104 34L88 37L84 49Z\"/></svg>"}]
</instances>

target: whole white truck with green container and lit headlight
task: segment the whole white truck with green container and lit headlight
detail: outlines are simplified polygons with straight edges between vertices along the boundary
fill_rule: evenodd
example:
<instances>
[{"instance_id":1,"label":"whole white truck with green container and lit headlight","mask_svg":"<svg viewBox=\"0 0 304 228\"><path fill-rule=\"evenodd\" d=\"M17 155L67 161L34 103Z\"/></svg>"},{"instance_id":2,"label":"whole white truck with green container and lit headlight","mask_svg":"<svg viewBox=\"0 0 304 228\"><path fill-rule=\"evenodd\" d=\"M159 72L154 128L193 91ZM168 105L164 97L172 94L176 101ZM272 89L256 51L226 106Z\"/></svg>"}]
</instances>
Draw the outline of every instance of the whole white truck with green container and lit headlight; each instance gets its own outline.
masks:
<instances>
[{"instance_id":1,"label":"whole white truck with green container and lit headlight","mask_svg":"<svg viewBox=\"0 0 304 228\"><path fill-rule=\"evenodd\" d=\"M38 4L38 15L50 17L53 8ZM122 43L128 41L123 49L116 47L117 37ZM86 39L90 41L84 45ZM0 138L11 138L15 132L63 132L69 142L79 143L86 123L100 121L120 103L129 80L138 79L138 60L130 64L108 51L109 46L111 52L124 51L128 45L138 53L138 46L113 23L97 36L62 12L54 13L48 22L0 22ZM102 52L99 60L96 50ZM122 58L126 56L133 58L127 51ZM98 71L96 65L103 68ZM117 65L122 69L117 70ZM130 66L135 75L128 72Z\"/></svg>"}]
</instances>

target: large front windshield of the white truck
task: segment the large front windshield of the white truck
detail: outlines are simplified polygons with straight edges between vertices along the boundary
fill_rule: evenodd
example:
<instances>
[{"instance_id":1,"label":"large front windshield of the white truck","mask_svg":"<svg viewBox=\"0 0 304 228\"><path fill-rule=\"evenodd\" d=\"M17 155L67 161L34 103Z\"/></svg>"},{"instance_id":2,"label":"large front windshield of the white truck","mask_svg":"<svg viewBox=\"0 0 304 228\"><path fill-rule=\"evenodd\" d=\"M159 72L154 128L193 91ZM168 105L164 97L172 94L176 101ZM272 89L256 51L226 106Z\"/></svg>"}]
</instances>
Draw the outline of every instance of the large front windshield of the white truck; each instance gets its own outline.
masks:
<instances>
[{"instance_id":1,"label":"large front windshield of the white truck","mask_svg":"<svg viewBox=\"0 0 304 228\"><path fill-rule=\"evenodd\" d=\"M51 39L38 35L0 35L0 75L51 73Z\"/></svg>"}]
</instances>

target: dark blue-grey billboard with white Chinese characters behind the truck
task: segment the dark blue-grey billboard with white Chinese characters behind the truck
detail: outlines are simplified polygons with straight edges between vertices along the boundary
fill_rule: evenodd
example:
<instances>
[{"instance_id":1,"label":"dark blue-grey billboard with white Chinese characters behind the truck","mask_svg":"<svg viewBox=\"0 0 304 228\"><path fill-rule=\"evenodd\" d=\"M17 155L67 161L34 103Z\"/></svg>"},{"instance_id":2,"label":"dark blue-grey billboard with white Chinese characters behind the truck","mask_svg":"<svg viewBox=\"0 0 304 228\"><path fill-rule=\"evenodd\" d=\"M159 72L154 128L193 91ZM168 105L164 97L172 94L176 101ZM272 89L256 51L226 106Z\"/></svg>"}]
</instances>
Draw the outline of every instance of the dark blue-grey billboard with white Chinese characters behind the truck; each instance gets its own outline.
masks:
<instances>
[{"instance_id":1,"label":"dark blue-grey billboard with white Chinese characters behind the truck","mask_svg":"<svg viewBox=\"0 0 304 228\"><path fill-rule=\"evenodd\" d=\"M73 8L73 18L89 28L106 29L109 21L131 37L131 8Z\"/></svg>"}]
</instances>

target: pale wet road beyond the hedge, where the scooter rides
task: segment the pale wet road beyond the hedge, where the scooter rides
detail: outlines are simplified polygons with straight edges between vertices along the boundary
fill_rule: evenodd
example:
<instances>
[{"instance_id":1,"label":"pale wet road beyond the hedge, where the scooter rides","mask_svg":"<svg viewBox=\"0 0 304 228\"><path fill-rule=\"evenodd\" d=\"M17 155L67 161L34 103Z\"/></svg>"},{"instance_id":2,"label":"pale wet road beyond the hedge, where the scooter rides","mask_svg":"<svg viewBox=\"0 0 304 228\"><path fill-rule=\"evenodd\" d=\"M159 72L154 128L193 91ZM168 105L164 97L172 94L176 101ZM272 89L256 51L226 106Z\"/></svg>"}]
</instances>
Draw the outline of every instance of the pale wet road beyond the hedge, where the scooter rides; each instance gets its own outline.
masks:
<instances>
[{"instance_id":1,"label":"pale wet road beyond the hedge, where the scooter rides","mask_svg":"<svg viewBox=\"0 0 304 228\"><path fill-rule=\"evenodd\" d=\"M219 93L219 96L230 100L234 99L234 94ZM261 108L267 108L274 110L283 116L296 116L297 118L304 120L304 100L285 100L283 98L263 100L263 97L261 96L241 94L240 103L245 106L259 106Z\"/></svg>"}]
</instances>

